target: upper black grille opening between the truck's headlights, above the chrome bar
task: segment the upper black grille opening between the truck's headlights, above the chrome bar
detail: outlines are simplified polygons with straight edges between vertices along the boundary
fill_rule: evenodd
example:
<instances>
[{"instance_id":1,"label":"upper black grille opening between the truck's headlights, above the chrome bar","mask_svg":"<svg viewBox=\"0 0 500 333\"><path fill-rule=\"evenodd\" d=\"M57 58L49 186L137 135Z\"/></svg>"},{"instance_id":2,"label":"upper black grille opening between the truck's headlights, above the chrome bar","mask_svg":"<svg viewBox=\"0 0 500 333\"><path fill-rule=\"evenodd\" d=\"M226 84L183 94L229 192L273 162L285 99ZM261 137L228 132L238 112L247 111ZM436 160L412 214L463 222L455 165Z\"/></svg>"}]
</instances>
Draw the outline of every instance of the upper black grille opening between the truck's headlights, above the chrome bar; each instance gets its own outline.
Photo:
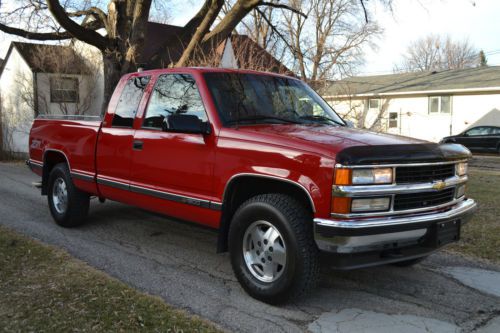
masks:
<instances>
[{"instance_id":1,"label":"upper black grille opening between the truck's headlights, above the chrome bar","mask_svg":"<svg viewBox=\"0 0 500 333\"><path fill-rule=\"evenodd\" d=\"M455 175L455 164L400 166L396 168L396 184L427 183Z\"/></svg>"}]
</instances>

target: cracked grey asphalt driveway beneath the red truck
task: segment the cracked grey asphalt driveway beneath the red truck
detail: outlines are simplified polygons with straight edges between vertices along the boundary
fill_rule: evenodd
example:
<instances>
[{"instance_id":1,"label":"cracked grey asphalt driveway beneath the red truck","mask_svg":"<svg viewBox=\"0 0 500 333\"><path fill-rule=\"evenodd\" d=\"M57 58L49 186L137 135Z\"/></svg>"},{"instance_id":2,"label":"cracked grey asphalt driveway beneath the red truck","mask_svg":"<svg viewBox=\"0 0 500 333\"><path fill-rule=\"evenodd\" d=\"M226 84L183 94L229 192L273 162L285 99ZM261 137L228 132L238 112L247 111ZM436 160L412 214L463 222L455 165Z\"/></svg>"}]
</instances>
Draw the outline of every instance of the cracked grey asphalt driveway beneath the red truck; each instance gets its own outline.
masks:
<instances>
[{"instance_id":1,"label":"cracked grey asphalt driveway beneath the red truck","mask_svg":"<svg viewBox=\"0 0 500 333\"><path fill-rule=\"evenodd\" d=\"M24 165L0 163L0 224L227 330L500 332L499 267L443 252L413 268L326 267L312 295L274 307L243 292L228 255L215 253L215 232L96 200L86 225L63 229L35 180Z\"/></svg>"}]
</instances>

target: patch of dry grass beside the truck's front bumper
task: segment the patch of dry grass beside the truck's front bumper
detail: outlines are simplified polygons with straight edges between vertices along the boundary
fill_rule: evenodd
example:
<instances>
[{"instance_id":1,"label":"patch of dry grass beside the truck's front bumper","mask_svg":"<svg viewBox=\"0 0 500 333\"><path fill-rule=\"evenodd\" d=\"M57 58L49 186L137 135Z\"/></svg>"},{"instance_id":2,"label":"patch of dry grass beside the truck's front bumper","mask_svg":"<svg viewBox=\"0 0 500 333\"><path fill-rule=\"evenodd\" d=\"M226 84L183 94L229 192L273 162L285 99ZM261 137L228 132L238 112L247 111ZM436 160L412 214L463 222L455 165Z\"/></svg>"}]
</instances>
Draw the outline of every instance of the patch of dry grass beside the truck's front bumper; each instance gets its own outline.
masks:
<instances>
[{"instance_id":1,"label":"patch of dry grass beside the truck's front bumper","mask_svg":"<svg viewBox=\"0 0 500 333\"><path fill-rule=\"evenodd\" d=\"M479 209L447 249L500 264L500 171L470 169L467 195Z\"/></svg>"}]
</instances>

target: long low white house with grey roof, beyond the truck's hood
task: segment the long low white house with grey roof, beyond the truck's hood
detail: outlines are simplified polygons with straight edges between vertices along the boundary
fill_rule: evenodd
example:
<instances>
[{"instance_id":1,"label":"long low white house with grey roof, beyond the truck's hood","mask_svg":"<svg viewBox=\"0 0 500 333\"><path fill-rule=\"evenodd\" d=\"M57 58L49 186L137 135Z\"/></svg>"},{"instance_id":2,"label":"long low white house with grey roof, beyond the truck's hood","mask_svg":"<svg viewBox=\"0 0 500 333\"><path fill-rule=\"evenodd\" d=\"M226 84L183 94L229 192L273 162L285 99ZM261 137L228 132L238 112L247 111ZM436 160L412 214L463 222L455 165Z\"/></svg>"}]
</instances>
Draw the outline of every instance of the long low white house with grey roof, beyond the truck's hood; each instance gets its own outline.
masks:
<instances>
[{"instance_id":1,"label":"long low white house with grey roof, beyond the truck's hood","mask_svg":"<svg viewBox=\"0 0 500 333\"><path fill-rule=\"evenodd\" d=\"M423 140L500 126L500 66L351 77L320 93L358 127Z\"/></svg>"}]
</instances>

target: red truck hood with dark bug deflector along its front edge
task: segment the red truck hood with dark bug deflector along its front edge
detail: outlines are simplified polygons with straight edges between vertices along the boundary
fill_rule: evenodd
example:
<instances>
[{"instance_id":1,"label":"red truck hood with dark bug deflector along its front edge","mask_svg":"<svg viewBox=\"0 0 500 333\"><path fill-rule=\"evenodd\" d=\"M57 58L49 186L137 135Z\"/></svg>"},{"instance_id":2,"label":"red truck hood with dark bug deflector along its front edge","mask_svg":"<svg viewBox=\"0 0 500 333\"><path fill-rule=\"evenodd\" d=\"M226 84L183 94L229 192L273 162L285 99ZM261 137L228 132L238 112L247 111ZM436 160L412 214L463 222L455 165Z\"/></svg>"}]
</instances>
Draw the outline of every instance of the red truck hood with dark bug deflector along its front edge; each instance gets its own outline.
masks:
<instances>
[{"instance_id":1,"label":"red truck hood with dark bug deflector along its front edge","mask_svg":"<svg viewBox=\"0 0 500 333\"><path fill-rule=\"evenodd\" d=\"M409 137L342 126L269 124L242 126L250 141L330 156L342 164L438 161L469 158L461 145L439 145ZM339 154L341 153L341 154Z\"/></svg>"}]
</instances>

